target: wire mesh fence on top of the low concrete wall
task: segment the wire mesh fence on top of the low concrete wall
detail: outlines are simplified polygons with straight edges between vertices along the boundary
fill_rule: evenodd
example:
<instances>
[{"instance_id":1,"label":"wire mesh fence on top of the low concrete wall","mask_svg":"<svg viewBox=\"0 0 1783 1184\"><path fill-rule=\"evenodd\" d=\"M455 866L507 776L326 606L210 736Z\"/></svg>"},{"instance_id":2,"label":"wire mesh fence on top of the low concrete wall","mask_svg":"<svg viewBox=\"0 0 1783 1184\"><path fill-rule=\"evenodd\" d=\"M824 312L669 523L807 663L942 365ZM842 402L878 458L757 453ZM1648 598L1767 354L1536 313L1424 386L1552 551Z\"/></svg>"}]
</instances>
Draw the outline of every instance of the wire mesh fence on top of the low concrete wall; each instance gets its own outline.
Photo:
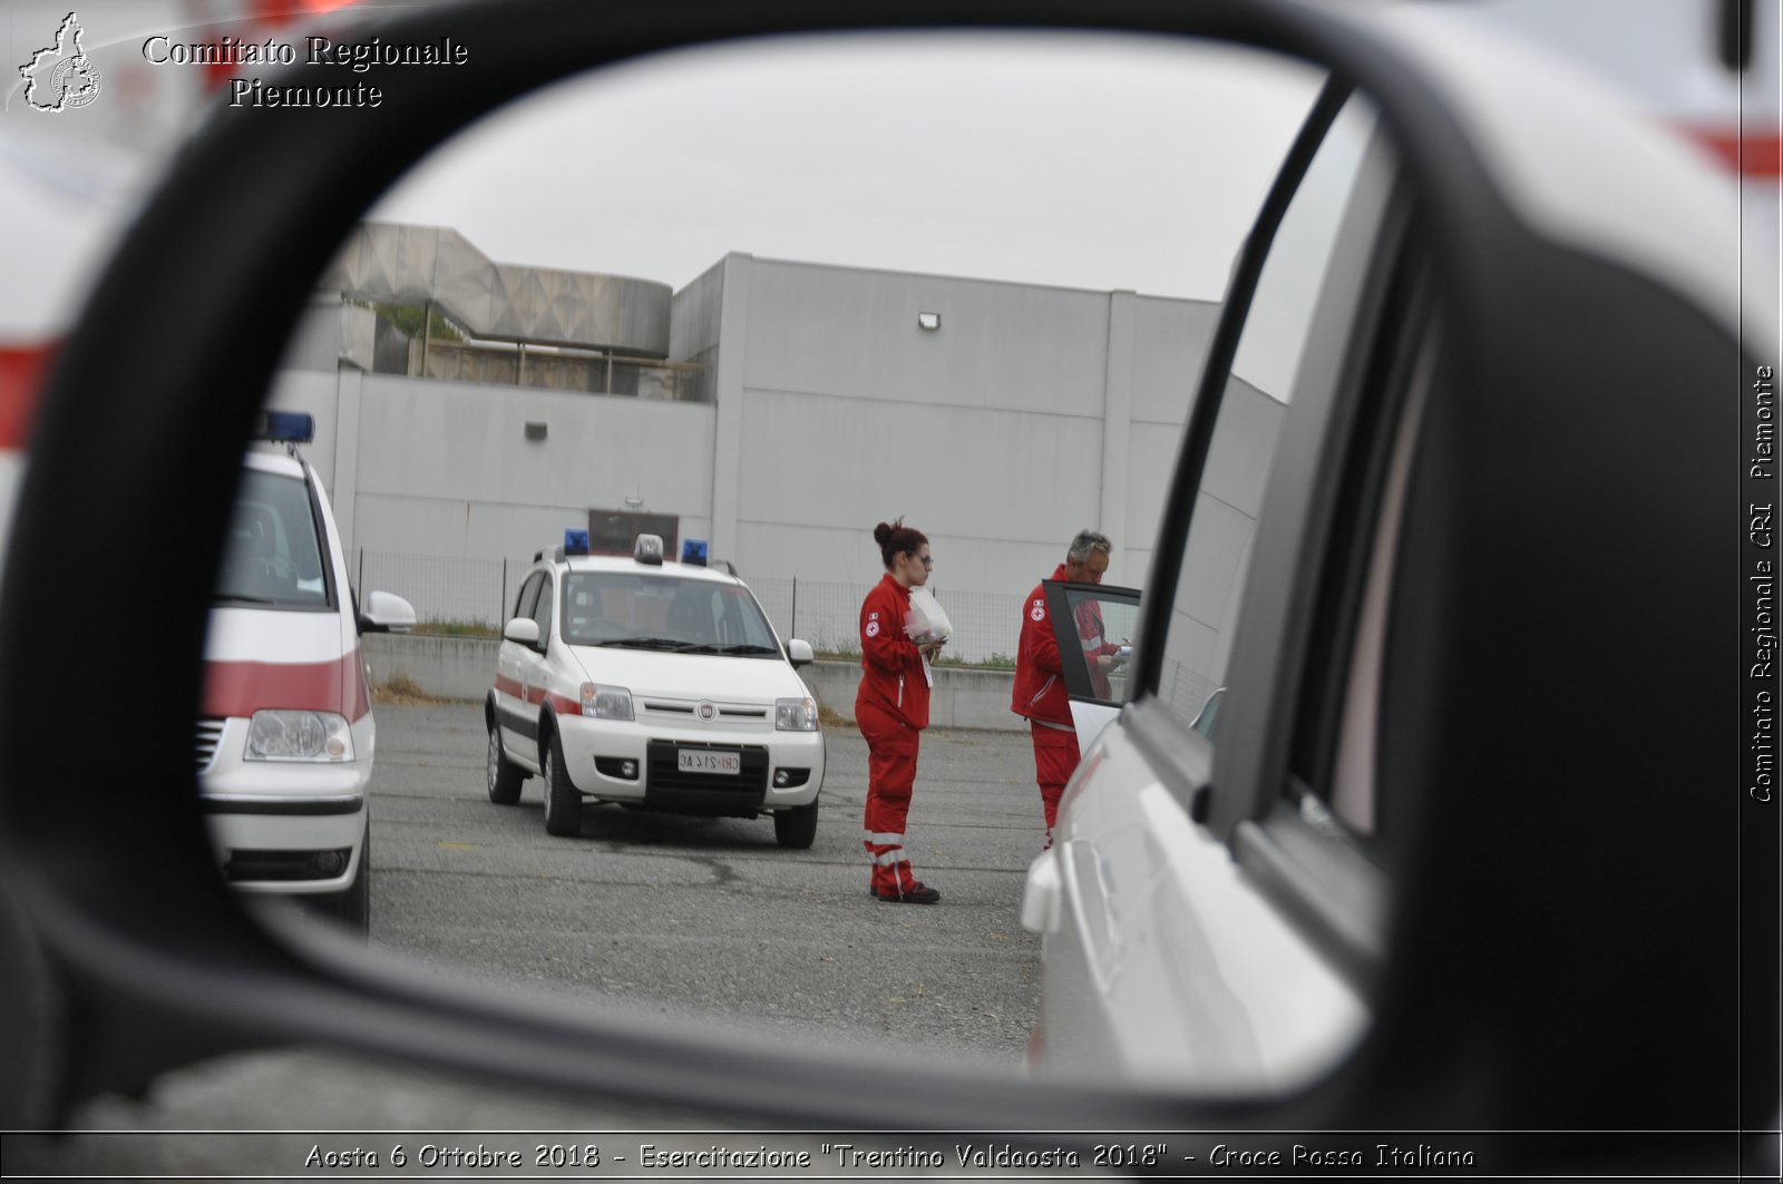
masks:
<instances>
[{"instance_id":1,"label":"wire mesh fence on top of the low concrete wall","mask_svg":"<svg viewBox=\"0 0 1783 1184\"><path fill-rule=\"evenodd\" d=\"M494 637L512 612L514 596L530 565L530 560L474 560L362 549L355 578L362 594L380 588L408 599L423 624L481 629ZM861 601L870 585L797 576L745 576L745 580L781 637L804 638L818 653L861 651ZM954 640L943 651L943 660L1013 665L1022 635L1022 592L936 588L934 599L947 610L947 619L954 626Z\"/></svg>"}]
</instances>

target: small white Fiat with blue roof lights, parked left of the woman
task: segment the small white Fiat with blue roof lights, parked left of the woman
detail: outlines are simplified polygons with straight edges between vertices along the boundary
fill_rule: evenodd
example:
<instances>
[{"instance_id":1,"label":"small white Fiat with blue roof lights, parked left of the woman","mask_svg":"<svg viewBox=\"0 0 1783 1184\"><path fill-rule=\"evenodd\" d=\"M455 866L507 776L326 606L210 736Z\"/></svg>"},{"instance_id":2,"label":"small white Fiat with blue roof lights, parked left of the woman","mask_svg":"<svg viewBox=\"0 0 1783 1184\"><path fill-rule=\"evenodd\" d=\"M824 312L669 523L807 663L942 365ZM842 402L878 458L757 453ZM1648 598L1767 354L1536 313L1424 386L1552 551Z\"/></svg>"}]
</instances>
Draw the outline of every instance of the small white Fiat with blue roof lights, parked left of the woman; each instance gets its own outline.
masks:
<instances>
[{"instance_id":1,"label":"small white Fiat with blue roof lights, parked left of the woman","mask_svg":"<svg viewBox=\"0 0 1783 1184\"><path fill-rule=\"evenodd\" d=\"M590 596L578 576L644 581L638 587L651 588L667 588L663 581L711 588L719 599L708 599L708 604L731 604L744 615L754 615L751 628L761 633L751 637L760 642L760 651L631 647L644 633L674 629L658 621L642 633L631 629L628 637L617 637L620 626L608 624L613 604L608 603L603 621L599 596ZM547 580L544 587L553 597L542 621L524 615L533 580ZM579 603L571 603L571 597ZM815 815L824 783L824 736L817 724L817 703L793 669L795 662L809 662L809 645L799 640L783 645L742 580L695 563L562 556L558 549L556 556L544 556L528 572L515 610L522 615L505 629L489 697L494 801L514 801L496 788L499 763L505 761L546 783L547 829L560 835L579 829L579 817L560 815L553 822L549 811L547 763L555 736L563 774L583 801L715 817L770 813L777 831L792 811L809 810ZM581 642L594 637L588 629L615 637L604 638L604 644L578 644L565 637L565 624L571 626L569 638ZM699 638L681 629L681 645L694 640ZM724 638L711 633L704 640L715 647ZM742 635L731 635L729 644L738 640L744 640ZM596 717L592 701L585 703L585 687L599 687L606 695L603 701L612 701L610 692L622 692L629 717ZM801 706L790 708L792 703ZM785 722L779 719L783 708L797 717L801 728L779 726ZM699 763L710 763L711 770L690 767ZM565 804L579 802L565 799ZM809 840L786 843L783 838L783 843L809 845Z\"/></svg>"}]
</instances>

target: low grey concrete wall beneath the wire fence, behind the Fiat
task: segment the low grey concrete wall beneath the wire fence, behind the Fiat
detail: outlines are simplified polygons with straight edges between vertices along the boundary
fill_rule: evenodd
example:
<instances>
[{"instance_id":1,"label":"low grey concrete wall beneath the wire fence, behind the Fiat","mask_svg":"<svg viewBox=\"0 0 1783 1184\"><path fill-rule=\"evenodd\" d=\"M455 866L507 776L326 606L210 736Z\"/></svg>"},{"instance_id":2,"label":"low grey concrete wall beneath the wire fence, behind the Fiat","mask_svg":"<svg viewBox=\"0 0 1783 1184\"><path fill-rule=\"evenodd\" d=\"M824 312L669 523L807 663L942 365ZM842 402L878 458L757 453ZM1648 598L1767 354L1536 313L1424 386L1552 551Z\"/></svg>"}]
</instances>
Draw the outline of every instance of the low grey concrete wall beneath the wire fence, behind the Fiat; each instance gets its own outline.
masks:
<instances>
[{"instance_id":1,"label":"low grey concrete wall beneath the wire fence, behind the Fiat","mask_svg":"<svg viewBox=\"0 0 1783 1184\"><path fill-rule=\"evenodd\" d=\"M481 703L496 676L499 642L464 637L410 637L369 633L362 638L373 683L382 687L401 676L435 699ZM854 690L861 681L858 662L813 662L801 670L811 695L845 719L854 717ZM1009 710L1015 674L1009 670L965 670L940 667L929 722L934 728L984 728L1027 731L1027 722Z\"/></svg>"}]
</instances>

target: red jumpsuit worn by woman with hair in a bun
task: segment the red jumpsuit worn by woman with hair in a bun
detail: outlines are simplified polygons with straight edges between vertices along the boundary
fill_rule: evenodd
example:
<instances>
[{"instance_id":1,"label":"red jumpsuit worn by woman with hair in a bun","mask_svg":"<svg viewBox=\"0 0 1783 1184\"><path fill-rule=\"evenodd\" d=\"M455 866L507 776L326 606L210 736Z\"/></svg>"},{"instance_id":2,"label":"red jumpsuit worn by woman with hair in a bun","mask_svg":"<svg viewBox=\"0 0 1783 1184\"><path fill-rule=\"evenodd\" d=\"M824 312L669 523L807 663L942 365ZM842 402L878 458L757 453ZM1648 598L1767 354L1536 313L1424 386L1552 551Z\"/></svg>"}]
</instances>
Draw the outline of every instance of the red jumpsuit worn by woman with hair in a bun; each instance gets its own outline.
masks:
<instances>
[{"instance_id":1,"label":"red jumpsuit worn by woman with hair in a bun","mask_svg":"<svg viewBox=\"0 0 1783 1184\"><path fill-rule=\"evenodd\" d=\"M920 888L904 854L916 747L929 726L929 672L904 633L909 588L890 574L861 603L861 687L854 722L867 738L867 856L875 895Z\"/></svg>"}]
</instances>

